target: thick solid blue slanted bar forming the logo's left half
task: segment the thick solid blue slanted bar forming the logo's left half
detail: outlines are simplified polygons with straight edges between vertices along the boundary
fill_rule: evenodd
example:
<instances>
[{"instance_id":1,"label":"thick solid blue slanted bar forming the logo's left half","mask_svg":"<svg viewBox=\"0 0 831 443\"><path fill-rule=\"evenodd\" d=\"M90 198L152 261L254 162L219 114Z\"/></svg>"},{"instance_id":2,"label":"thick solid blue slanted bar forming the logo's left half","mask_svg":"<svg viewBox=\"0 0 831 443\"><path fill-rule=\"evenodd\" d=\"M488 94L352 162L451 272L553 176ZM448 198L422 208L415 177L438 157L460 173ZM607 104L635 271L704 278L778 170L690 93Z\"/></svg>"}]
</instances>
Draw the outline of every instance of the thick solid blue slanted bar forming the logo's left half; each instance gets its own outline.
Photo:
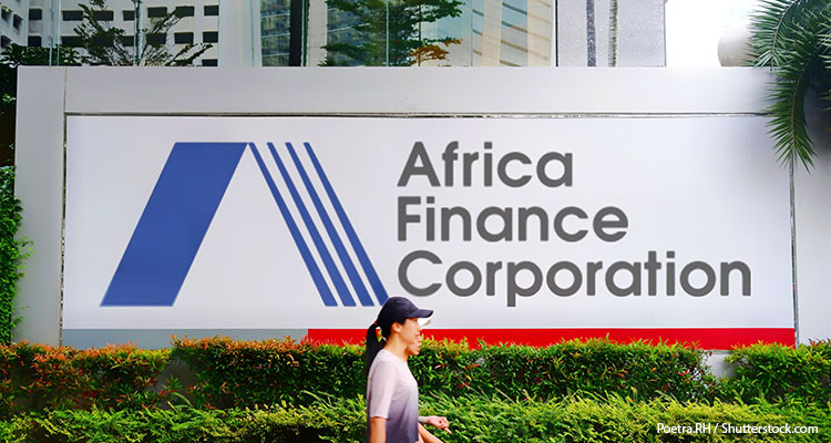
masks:
<instances>
[{"instance_id":1,"label":"thick solid blue slanted bar forming the logo's left half","mask_svg":"<svg viewBox=\"0 0 831 443\"><path fill-rule=\"evenodd\" d=\"M173 306L245 143L176 143L101 306Z\"/></svg>"}]
</instances>

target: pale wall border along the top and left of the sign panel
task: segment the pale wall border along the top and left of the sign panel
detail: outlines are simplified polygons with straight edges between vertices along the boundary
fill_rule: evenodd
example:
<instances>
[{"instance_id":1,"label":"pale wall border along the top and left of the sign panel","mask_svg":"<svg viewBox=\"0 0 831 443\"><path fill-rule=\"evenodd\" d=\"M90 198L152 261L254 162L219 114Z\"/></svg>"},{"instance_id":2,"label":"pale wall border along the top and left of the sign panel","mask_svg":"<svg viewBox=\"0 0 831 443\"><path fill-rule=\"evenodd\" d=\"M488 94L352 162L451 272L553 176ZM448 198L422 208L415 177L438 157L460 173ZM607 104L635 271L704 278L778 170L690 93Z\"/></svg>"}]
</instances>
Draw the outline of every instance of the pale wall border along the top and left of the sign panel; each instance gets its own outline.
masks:
<instances>
[{"instance_id":1,"label":"pale wall border along the top and left of the sign panel","mask_svg":"<svg viewBox=\"0 0 831 443\"><path fill-rule=\"evenodd\" d=\"M33 241L34 254L19 286L25 309L17 333L59 344L66 115L760 115L770 74L742 68L21 66L19 79L16 192L24 207L21 236ZM811 271L829 264L825 256ZM800 287L803 299L822 291Z\"/></svg>"}]
</instances>

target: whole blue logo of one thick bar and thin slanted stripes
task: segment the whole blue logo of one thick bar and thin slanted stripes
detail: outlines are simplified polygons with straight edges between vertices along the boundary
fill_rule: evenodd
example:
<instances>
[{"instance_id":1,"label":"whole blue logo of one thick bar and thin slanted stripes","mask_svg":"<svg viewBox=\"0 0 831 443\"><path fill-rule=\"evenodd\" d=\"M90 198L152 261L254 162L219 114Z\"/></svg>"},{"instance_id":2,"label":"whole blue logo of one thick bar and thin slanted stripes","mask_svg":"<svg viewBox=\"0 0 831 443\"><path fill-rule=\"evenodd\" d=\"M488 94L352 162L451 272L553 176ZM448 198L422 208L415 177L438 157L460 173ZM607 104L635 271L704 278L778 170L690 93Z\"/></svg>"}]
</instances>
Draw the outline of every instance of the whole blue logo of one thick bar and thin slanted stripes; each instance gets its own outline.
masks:
<instances>
[{"instance_id":1,"label":"whole blue logo of one thick bar and thin slanted stripes","mask_svg":"<svg viewBox=\"0 0 831 443\"><path fill-rule=\"evenodd\" d=\"M314 174L322 184L322 194L335 209L335 217L346 233L347 241L367 276L375 298L379 305L383 305L388 298L387 290L315 155L315 151L308 143L305 143L304 147L314 165ZM340 305L356 306L352 290L340 274L329 247L324 241L289 175L286 163L271 143L268 143L268 152L280 172L280 179L288 189L290 200L287 200L277 188L275 178L266 166L266 159L254 143L176 143L171 150L171 155L144 207L101 306L173 306L245 150L250 150L254 154L265 184L274 196L324 305L338 306L334 293L337 292ZM324 206L297 152L290 143L286 143L286 151L322 222L324 230L335 248L346 277L355 289L358 302L361 306L373 306L373 299L358 274L356 264L347 253L343 240L335 228L332 218ZM300 214L301 223L335 287L334 291L324 278L324 270L312 256L288 205L294 205Z\"/></svg>"}]
</instances>

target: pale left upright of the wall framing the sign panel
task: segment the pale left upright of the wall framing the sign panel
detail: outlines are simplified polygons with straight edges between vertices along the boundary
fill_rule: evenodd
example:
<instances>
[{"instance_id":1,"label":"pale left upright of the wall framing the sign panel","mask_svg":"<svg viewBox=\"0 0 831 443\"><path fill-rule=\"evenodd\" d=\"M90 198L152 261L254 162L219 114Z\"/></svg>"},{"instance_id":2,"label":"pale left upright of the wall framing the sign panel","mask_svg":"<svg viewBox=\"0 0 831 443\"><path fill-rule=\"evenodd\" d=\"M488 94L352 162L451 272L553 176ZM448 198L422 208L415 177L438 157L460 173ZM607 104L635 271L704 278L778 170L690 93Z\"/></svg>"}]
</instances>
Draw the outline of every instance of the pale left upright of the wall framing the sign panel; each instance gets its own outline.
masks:
<instances>
[{"instance_id":1,"label":"pale left upright of the wall framing the sign panel","mask_svg":"<svg viewBox=\"0 0 831 443\"><path fill-rule=\"evenodd\" d=\"M61 341L65 86L63 68L19 68L14 193L25 202L18 235L33 253L18 284L23 321L14 334L49 344Z\"/></svg>"}]
</instances>

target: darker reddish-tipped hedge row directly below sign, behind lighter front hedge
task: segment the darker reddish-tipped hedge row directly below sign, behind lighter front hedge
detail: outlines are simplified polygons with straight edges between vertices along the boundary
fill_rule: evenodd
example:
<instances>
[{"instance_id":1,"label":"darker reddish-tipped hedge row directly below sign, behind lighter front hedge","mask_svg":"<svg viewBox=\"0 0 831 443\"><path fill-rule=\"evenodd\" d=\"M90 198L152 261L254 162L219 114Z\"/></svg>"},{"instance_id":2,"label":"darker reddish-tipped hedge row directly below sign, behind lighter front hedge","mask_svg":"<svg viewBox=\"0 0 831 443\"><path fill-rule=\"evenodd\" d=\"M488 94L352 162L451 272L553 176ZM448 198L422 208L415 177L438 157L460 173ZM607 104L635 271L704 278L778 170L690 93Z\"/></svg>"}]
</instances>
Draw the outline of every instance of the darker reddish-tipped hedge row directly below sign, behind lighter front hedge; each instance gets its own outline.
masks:
<instances>
[{"instance_id":1,"label":"darker reddish-tipped hedge row directly below sign, behind lighter front hedge","mask_svg":"<svg viewBox=\"0 0 831 443\"><path fill-rule=\"evenodd\" d=\"M365 393L361 347L174 339L172 350L130 346L78 350L28 343L0 347L0 416L45 409L135 409L184 395L197 408L311 404ZM410 368L424 394L557 400L609 393L635 401L721 400L745 403L831 400L828 342L796 349L757 344L733 351L733 377L717 379L705 351L680 346L566 341L547 348L425 341ZM170 362L196 375L187 389L160 383Z\"/></svg>"}]
</instances>

